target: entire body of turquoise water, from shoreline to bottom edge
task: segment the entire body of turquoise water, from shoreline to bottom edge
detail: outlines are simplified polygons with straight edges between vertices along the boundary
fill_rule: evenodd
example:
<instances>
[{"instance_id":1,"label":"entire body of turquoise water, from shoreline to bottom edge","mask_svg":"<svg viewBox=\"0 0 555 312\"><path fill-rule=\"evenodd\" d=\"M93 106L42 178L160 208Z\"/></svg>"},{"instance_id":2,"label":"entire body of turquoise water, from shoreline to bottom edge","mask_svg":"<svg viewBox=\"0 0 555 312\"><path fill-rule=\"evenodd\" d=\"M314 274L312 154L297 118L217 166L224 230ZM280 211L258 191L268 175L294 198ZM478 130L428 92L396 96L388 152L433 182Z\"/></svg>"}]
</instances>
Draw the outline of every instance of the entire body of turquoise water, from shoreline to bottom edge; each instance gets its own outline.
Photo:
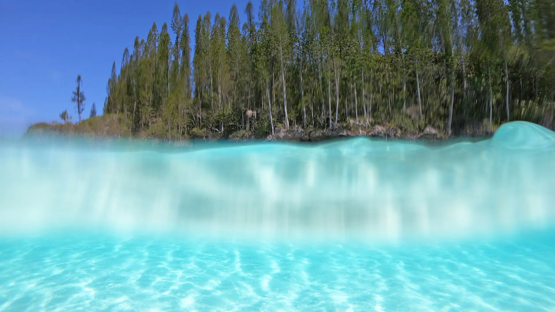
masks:
<instances>
[{"instance_id":1,"label":"entire body of turquoise water, from shoreline to bottom edge","mask_svg":"<svg viewBox=\"0 0 555 312\"><path fill-rule=\"evenodd\" d=\"M0 145L0 311L553 311L555 133Z\"/></svg>"}]
</instances>

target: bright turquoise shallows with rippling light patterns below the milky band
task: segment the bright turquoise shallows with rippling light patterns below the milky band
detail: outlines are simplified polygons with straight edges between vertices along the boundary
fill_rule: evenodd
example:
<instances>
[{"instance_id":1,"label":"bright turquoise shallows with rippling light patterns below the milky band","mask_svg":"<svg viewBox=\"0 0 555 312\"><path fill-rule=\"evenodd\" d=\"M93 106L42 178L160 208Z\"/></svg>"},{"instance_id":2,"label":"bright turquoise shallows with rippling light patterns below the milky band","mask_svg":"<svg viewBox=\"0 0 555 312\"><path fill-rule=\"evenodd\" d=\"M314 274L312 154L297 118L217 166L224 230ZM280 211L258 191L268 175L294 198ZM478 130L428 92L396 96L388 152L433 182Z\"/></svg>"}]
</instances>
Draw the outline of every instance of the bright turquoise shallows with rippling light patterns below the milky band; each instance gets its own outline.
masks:
<instances>
[{"instance_id":1,"label":"bright turquoise shallows with rippling light patterns below the milky band","mask_svg":"<svg viewBox=\"0 0 555 312\"><path fill-rule=\"evenodd\" d=\"M0 241L3 311L553 311L555 232L447 245Z\"/></svg>"}]
</instances>

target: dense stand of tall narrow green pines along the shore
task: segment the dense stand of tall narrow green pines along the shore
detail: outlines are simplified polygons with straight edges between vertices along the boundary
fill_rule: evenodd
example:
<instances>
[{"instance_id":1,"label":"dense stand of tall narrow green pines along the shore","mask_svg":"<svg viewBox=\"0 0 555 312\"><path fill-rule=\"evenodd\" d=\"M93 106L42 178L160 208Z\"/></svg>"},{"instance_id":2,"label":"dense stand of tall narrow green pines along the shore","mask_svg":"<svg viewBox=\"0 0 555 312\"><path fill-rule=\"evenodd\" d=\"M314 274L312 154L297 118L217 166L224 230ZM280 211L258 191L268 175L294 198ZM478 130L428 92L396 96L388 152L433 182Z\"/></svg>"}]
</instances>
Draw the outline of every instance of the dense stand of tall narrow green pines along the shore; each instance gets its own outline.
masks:
<instances>
[{"instance_id":1,"label":"dense stand of tall narrow green pines along the shore","mask_svg":"<svg viewBox=\"0 0 555 312\"><path fill-rule=\"evenodd\" d=\"M114 62L104 113L166 138L553 127L553 0L262 0L245 13L206 13L191 31L175 4L172 34L154 23Z\"/></svg>"}]
</instances>

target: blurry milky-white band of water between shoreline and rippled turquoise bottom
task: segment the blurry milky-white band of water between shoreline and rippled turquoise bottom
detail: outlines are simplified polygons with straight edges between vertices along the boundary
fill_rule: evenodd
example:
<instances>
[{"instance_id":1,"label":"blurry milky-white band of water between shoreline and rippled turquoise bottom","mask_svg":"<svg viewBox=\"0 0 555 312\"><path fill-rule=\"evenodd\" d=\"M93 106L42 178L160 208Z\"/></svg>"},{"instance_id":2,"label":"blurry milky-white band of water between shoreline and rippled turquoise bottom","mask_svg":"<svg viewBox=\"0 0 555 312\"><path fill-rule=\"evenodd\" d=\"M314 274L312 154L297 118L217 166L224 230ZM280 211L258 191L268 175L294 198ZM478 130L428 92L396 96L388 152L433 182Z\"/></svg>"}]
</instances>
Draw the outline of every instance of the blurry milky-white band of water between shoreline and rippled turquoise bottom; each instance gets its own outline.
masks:
<instances>
[{"instance_id":1,"label":"blurry milky-white band of water between shoreline and rippled turquoise bottom","mask_svg":"<svg viewBox=\"0 0 555 312\"><path fill-rule=\"evenodd\" d=\"M323 144L0 144L0 231L461 238L555 218L555 133L526 122L426 147ZM133 147L135 146L135 148Z\"/></svg>"}]
</instances>

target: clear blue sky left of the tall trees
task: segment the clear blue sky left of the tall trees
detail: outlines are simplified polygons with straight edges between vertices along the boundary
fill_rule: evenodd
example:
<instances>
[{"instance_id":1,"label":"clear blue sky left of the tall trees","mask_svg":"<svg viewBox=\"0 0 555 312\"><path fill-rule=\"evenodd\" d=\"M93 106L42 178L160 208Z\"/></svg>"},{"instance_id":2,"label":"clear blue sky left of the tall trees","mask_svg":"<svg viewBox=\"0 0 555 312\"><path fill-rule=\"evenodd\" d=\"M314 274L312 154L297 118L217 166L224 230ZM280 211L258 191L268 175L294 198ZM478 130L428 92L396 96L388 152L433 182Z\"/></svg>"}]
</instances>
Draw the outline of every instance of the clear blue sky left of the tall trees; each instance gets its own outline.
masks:
<instances>
[{"instance_id":1,"label":"clear blue sky left of the tall trees","mask_svg":"<svg viewBox=\"0 0 555 312\"><path fill-rule=\"evenodd\" d=\"M196 19L210 11L228 18L235 3L245 22L248 0L179 0L188 13L194 43ZM60 121L71 102L75 79L83 79L84 116L97 104L102 113L106 84L135 36L146 38L152 23L170 25L175 0L0 0L0 136L19 137L29 125ZM258 17L260 2L253 1ZM170 27L168 27L170 28ZM171 31L171 30L170 30ZM191 48L194 46L191 45Z\"/></svg>"}]
</instances>

